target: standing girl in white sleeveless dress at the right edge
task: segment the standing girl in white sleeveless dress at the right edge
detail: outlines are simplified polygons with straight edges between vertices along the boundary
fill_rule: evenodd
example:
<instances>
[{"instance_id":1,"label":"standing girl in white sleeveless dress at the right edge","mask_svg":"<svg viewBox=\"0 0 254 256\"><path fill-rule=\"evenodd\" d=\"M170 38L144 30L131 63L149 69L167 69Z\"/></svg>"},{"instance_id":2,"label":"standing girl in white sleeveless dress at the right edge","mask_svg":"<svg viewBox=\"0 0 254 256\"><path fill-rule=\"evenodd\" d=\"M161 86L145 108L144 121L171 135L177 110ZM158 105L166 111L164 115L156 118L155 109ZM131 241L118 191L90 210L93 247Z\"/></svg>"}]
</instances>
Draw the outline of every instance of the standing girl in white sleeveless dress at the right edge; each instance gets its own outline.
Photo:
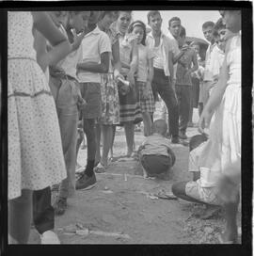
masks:
<instances>
[{"instance_id":1,"label":"standing girl in white sleeveless dress at the right edge","mask_svg":"<svg viewBox=\"0 0 254 256\"><path fill-rule=\"evenodd\" d=\"M211 142L200 155L200 166L213 168L214 152L220 152L218 168L223 175L230 176L229 166L234 167L235 163L241 163L241 110L242 110L242 88L241 88L241 10L220 11L226 27L232 33L238 33L228 40L226 54L221 68L217 86L209 99L208 104L198 121L199 130L204 131L204 127L209 122L217 109L216 129L219 129L219 136L214 136L211 127ZM210 154L212 152L212 154ZM207 157L209 155L209 157ZM241 165L236 168L241 172ZM227 170L227 171L226 171ZM238 184L241 179L238 179ZM227 220L226 232L220 236L222 243L236 243L237 225L236 215L239 204L239 196L233 201L226 201L224 204L225 216Z\"/></svg>"}]
</instances>

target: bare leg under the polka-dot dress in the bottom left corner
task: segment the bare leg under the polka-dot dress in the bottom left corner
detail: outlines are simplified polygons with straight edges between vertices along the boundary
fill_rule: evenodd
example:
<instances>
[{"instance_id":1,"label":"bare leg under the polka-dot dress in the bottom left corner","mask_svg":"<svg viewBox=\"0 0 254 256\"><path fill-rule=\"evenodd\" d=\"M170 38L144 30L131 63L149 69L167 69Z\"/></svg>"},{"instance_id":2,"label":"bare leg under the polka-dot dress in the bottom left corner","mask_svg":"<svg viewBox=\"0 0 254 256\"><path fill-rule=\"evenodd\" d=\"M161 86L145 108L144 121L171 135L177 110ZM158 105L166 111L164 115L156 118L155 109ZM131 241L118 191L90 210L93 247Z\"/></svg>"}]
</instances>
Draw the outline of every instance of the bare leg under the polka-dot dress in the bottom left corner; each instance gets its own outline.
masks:
<instances>
[{"instance_id":1,"label":"bare leg under the polka-dot dress in the bottom left corner","mask_svg":"<svg viewBox=\"0 0 254 256\"><path fill-rule=\"evenodd\" d=\"M9 243L27 244L32 220L32 190L23 189L22 196L8 201Z\"/></svg>"}]
</instances>

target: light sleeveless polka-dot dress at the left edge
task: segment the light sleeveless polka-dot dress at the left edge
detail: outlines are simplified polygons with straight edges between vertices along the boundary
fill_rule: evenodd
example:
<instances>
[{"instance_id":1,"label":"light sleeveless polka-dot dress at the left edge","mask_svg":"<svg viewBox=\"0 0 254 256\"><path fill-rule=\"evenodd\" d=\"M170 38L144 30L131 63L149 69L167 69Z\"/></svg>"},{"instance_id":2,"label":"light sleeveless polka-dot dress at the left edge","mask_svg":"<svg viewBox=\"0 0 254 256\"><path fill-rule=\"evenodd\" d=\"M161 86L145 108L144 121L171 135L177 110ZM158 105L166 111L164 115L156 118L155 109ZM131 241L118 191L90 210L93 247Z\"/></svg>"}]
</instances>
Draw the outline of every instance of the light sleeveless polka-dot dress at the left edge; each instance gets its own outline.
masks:
<instances>
[{"instance_id":1,"label":"light sleeveless polka-dot dress at the left edge","mask_svg":"<svg viewBox=\"0 0 254 256\"><path fill-rule=\"evenodd\" d=\"M36 61L30 12L8 12L8 200L66 178L56 105Z\"/></svg>"}]
</instances>

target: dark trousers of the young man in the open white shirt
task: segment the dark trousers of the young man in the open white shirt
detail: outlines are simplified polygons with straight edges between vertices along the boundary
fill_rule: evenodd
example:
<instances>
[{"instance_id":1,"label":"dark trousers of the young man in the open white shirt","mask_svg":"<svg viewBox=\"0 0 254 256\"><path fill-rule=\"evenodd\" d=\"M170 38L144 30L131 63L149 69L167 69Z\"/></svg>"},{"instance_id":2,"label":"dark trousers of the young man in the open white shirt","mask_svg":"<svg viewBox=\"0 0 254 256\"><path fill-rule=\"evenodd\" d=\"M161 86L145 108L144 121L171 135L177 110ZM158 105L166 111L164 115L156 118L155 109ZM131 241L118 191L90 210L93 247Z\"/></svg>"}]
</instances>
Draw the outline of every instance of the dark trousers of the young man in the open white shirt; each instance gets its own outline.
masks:
<instances>
[{"instance_id":1,"label":"dark trousers of the young man in the open white shirt","mask_svg":"<svg viewBox=\"0 0 254 256\"><path fill-rule=\"evenodd\" d=\"M165 75L163 70L154 68L154 75L151 83L152 93L155 98L156 92L158 92L167 105L168 113L168 128L170 136L178 136L178 104L175 97L172 85L169 83L168 76Z\"/></svg>"}]
</instances>

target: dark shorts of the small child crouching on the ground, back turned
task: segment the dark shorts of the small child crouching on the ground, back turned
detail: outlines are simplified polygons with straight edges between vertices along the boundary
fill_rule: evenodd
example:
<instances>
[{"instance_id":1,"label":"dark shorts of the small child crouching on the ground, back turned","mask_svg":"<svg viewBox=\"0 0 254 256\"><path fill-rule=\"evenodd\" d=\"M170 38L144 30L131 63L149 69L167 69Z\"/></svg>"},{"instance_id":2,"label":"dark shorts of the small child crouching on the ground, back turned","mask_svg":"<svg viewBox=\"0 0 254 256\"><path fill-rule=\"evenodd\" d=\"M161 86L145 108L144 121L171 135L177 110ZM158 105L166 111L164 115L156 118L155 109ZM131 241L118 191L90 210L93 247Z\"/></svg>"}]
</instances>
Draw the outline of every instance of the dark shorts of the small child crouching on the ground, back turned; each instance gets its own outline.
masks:
<instances>
[{"instance_id":1,"label":"dark shorts of the small child crouching on the ground, back turned","mask_svg":"<svg viewBox=\"0 0 254 256\"><path fill-rule=\"evenodd\" d=\"M148 174L158 175L169 170L173 166L174 160L171 156L166 155L143 155L141 157L141 165Z\"/></svg>"}]
</instances>

